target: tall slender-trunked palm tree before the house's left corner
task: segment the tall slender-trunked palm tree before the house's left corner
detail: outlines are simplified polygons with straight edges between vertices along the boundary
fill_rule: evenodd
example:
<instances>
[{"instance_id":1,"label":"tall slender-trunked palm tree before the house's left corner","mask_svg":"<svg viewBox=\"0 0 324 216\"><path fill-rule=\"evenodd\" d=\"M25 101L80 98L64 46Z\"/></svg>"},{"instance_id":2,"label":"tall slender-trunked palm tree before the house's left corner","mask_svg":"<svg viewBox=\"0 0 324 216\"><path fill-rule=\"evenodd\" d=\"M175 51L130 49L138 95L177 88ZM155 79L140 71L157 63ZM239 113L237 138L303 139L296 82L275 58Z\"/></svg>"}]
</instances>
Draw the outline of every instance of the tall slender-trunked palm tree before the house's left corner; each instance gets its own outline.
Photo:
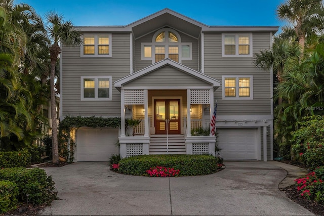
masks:
<instances>
[{"instance_id":1,"label":"tall slender-trunked palm tree before the house's left corner","mask_svg":"<svg viewBox=\"0 0 324 216\"><path fill-rule=\"evenodd\" d=\"M59 160L58 153L58 138L57 138L57 124L56 124L56 104L55 104L55 66L59 54L61 53L60 45L79 45L82 42L81 33L75 29L71 21L64 21L62 15L56 12L49 12L46 15L47 25L46 30L48 37L51 40L50 56L51 56L51 73L50 73L50 87L51 87L51 118L52 118L52 149L53 149L53 163Z\"/></svg>"}]
</instances>

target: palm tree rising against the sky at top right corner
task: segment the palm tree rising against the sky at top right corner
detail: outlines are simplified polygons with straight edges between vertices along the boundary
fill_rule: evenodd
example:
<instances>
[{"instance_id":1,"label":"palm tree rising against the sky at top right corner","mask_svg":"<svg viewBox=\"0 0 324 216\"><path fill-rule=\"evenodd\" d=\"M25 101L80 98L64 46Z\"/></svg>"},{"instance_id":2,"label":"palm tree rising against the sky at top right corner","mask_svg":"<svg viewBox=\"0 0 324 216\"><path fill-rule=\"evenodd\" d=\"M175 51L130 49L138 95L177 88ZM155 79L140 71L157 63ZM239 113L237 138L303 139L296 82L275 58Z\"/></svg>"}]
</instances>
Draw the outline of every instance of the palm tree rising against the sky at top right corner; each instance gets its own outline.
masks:
<instances>
[{"instance_id":1,"label":"palm tree rising against the sky at top right corner","mask_svg":"<svg viewBox=\"0 0 324 216\"><path fill-rule=\"evenodd\" d=\"M289 0L277 8L277 16L281 20L288 21L293 25L298 37L299 45L302 48L301 57L305 47L305 37L312 34L312 30L317 23L314 19L320 19L321 13L318 9L322 8L322 0ZM316 17L319 15L319 17Z\"/></svg>"}]
</instances>

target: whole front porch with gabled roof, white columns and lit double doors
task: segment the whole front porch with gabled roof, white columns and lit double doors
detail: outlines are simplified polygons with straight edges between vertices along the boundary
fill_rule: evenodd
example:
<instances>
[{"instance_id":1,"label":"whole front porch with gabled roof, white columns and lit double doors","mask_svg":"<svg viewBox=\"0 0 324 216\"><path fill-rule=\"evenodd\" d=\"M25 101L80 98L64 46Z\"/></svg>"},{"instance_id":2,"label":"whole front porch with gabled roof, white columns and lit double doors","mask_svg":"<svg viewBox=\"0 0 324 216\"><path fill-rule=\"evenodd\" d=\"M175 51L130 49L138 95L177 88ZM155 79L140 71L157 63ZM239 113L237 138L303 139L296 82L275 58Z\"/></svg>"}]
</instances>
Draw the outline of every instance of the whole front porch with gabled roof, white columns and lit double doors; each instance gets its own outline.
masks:
<instances>
[{"instance_id":1,"label":"whole front porch with gabled roof, white columns and lit double doors","mask_svg":"<svg viewBox=\"0 0 324 216\"><path fill-rule=\"evenodd\" d=\"M165 59L115 81L114 85L120 91L122 157L215 153L216 138L211 135L210 121L214 91L220 87L220 81ZM126 119L140 120L133 125L134 136ZM207 136L191 139L198 128L208 129ZM157 135L158 143L153 138ZM171 140L172 136L177 141Z\"/></svg>"}]
</instances>

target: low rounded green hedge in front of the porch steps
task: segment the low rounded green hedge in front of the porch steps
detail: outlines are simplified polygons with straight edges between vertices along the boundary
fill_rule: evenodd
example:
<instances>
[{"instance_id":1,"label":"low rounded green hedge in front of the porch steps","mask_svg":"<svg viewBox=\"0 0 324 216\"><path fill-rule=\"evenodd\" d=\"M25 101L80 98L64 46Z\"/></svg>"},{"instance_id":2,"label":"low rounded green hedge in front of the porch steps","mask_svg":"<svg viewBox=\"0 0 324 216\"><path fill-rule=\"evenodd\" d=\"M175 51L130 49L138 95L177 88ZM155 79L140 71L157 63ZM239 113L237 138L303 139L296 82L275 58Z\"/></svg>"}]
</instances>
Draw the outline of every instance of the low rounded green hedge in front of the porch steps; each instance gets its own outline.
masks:
<instances>
[{"instance_id":1,"label":"low rounded green hedge in front of the porch steps","mask_svg":"<svg viewBox=\"0 0 324 216\"><path fill-rule=\"evenodd\" d=\"M155 166L179 169L179 176L207 175L219 170L222 159L213 155L138 155L119 161L118 172L148 176L146 170Z\"/></svg>"}]
</instances>

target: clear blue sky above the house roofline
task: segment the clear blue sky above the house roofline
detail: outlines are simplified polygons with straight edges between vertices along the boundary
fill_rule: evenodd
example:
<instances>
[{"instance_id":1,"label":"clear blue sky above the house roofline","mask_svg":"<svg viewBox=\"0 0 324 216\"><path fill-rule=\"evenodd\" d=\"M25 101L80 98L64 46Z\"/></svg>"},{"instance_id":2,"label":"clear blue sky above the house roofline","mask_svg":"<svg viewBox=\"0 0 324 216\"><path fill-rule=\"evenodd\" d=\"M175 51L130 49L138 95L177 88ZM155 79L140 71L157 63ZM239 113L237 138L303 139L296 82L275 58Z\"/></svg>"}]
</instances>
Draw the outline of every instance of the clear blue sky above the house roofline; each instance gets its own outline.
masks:
<instances>
[{"instance_id":1,"label":"clear blue sky above the house roofline","mask_svg":"<svg viewBox=\"0 0 324 216\"><path fill-rule=\"evenodd\" d=\"M127 25L165 8L207 25L282 26L284 23L276 18L275 12L286 1L16 0L22 2L42 16L56 11L75 26Z\"/></svg>"}]
</instances>

